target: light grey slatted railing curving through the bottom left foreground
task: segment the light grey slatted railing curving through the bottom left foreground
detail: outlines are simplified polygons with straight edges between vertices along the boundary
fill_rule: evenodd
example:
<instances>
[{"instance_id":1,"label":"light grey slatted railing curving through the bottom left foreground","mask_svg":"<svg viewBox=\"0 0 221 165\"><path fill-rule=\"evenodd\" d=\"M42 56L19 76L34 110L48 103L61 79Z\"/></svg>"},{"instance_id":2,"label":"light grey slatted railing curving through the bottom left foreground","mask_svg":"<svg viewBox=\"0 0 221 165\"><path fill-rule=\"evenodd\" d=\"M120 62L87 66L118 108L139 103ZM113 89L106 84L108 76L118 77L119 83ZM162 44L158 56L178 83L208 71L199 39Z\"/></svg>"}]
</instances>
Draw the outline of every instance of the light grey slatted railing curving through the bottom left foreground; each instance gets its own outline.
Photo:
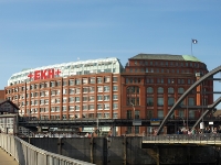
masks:
<instances>
[{"instance_id":1,"label":"light grey slatted railing curving through the bottom left foreground","mask_svg":"<svg viewBox=\"0 0 221 165\"><path fill-rule=\"evenodd\" d=\"M21 165L93 165L41 150L9 134L0 133L0 146Z\"/></svg>"}]
</instances>

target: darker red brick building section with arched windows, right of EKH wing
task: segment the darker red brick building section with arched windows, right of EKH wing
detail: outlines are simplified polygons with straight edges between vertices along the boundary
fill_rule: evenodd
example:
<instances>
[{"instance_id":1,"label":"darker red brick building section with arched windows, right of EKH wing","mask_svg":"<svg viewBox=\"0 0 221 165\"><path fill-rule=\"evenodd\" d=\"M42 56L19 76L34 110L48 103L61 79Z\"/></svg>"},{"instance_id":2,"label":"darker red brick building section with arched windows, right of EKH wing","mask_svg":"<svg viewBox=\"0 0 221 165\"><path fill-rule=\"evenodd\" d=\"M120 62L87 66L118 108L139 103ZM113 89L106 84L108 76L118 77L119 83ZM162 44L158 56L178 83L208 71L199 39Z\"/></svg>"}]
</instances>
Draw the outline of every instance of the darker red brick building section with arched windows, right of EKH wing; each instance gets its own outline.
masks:
<instances>
[{"instance_id":1,"label":"darker red brick building section with arched windows, right of EKH wing","mask_svg":"<svg viewBox=\"0 0 221 165\"><path fill-rule=\"evenodd\" d=\"M208 73L207 65L194 56L138 54L128 59L122 74L122 118L162 119L176 100ZM198 92L197 92L198 91ZM210 91L202 96L201 91ZM200 106L213 102L213 81L198 86L182 105ZM187 113L189 111L189 114ZM171 118L198 119L200 111L180 109ZM128 127L123 132L150 133L152 128Z\"/></svg>"}]
</instances>

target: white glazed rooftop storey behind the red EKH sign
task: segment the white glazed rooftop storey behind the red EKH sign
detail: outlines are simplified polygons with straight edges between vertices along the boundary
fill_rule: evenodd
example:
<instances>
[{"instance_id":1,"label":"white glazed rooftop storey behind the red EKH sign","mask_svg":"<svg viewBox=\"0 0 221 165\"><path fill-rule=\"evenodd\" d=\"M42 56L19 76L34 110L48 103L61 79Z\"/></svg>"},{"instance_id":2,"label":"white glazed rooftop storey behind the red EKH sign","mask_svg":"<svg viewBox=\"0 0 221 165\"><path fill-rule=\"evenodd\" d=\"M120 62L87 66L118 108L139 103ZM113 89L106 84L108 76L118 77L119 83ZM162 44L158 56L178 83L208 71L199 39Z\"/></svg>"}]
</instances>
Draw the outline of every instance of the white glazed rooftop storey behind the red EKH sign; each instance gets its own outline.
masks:
<instances>
[{"instance_id":1,"label":"white glazed rooftop storey behind the red EKH sign","mask_svg":"<svg viewBox=\"0 0 221 165\"><path fill-rule=\"evenodd\" d=\"M55 72L59 70L60 74L54 75L55 77L69 77L74 75L90 75L99 73L119 74L123 72L123 65L120 64L118 58L107 57L29 68L13 74L8 80L8 86L32 81L33 78L29 77L31 73L46 69L54 69Z\"/></svg>"}]
</instances>

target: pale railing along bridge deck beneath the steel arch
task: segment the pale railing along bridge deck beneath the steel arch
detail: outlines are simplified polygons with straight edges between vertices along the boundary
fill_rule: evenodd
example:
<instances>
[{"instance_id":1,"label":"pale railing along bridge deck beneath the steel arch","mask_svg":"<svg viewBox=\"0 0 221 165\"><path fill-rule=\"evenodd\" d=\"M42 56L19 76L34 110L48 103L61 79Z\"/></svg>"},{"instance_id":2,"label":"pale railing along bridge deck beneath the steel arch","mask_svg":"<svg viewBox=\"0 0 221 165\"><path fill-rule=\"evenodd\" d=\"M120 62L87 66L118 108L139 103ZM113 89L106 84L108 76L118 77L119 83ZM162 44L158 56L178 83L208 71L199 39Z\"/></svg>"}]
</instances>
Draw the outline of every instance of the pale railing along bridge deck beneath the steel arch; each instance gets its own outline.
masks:
<instances>
[{"instance_id":1,"label":"pale railing along bridge deck beneath the steel arch","mask_svg":"<svg viewBox=\"0 0 221 165\"><path fill-rule=\"evenodd\" d=\"M220 133L202 133L202 134L161 134L143 136L143 142L150 143L221 143Z\"/></svg>"}]
</instances>

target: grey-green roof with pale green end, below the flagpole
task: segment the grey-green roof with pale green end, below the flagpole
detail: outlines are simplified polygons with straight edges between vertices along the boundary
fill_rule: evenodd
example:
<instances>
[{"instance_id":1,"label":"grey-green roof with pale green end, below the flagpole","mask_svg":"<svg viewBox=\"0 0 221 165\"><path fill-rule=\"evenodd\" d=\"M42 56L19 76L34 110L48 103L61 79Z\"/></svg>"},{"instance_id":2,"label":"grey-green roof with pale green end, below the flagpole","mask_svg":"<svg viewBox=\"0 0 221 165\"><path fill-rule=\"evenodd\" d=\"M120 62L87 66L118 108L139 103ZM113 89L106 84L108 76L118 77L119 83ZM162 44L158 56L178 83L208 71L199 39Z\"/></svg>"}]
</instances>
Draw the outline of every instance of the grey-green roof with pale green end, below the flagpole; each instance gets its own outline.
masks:
<instances>
[{"instance_id":1,"label":"grey-green roof with pale green end, below the flagpole","mask_svg":"<svg viewBox=\"0 0 221 165\"><path fill-rule=\"evenodd\" d=\"M194 56L170 54L138 54L129 59L160 59L160 61L192 61L200 62Z\"/></svg>"}]
</instances>

